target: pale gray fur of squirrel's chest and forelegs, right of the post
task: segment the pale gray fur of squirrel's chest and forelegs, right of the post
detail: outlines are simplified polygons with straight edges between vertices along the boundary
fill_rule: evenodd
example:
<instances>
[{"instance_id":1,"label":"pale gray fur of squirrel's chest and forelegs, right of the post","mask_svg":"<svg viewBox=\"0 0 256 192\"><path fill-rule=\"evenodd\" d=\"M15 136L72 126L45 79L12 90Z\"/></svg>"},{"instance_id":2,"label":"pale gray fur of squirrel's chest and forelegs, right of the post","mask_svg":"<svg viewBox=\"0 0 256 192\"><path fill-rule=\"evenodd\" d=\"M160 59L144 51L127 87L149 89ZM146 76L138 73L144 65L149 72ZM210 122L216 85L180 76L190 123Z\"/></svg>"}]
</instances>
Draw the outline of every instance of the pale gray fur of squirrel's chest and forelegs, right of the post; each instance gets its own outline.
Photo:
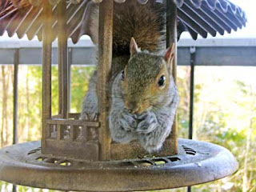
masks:
<instances>
[{"instance_id":1,"label":"pale gray fur of squirrel's chest and forelegs, right of the post","mask_svg":"<svg viewBox=\"0 0 256 192\"><path fill-rule=\"evenodd\" d=\"M110 110L110 133L111 137L116 142L130 142L137 139L145 150L148 152L158 151L162 147L162 143L170 134L171 127L174 122L174 115L178 106L178 92L174 84L174 79L170 77L169 86L169 102L166 106L160 109L152 108L146 110L141 115L136 117L134 114L129 114L126 111L122 89L120 86L121 74L114 80L112 87L112 104ZM126 113L129 118L123 118L122 114ZM137 128L131 126L131 129L126 128L126 124L122 121L127 121L127 125L133 125L134 121L138 122ZM123 126L125 125L125 126Z\"/></svg>"}]
</instances>

